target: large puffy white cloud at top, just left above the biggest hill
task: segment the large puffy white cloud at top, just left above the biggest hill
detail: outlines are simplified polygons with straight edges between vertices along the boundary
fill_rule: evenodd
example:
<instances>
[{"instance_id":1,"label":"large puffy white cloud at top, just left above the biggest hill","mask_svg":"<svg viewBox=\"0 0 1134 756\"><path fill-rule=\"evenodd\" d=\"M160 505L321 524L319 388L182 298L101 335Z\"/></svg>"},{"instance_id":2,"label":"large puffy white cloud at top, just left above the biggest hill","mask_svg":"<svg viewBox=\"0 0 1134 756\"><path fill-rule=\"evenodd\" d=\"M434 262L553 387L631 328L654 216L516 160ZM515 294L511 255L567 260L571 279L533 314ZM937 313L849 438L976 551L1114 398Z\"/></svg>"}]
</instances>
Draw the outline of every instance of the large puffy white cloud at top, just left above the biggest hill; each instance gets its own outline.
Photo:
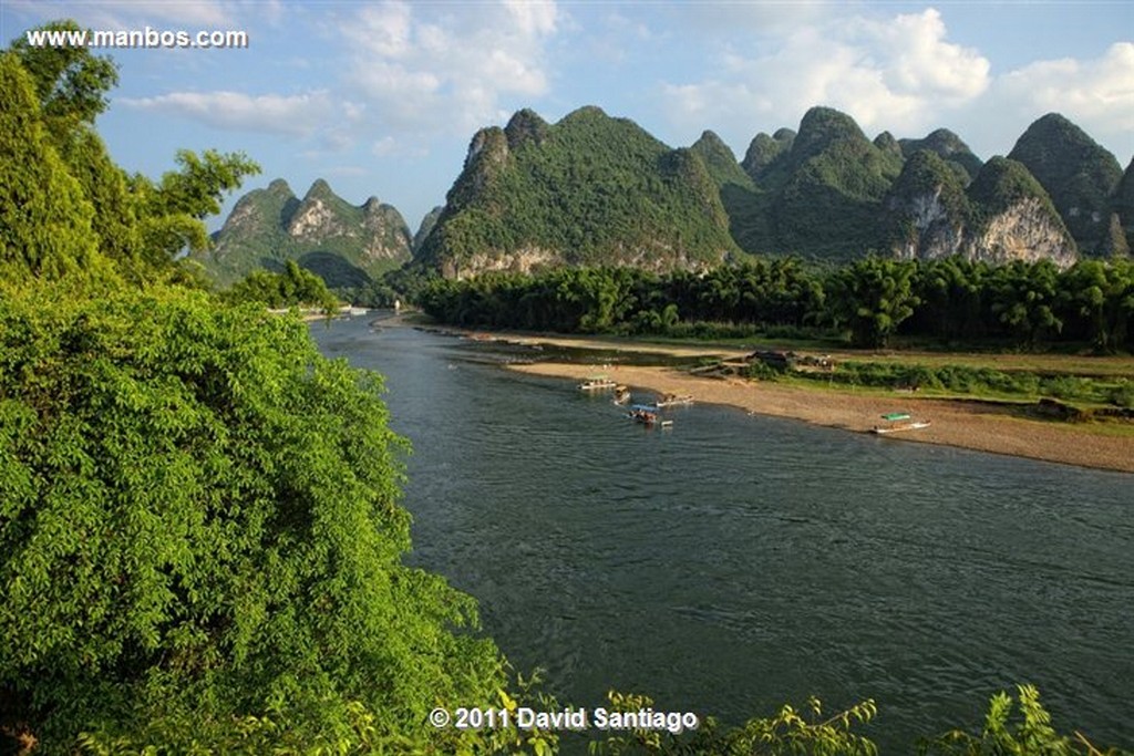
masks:
<instances>
[{"instance_id":1,"label":"large puffy white cloud at top, just left above the biggest hill","mask_svg":"<svg viewBox=\"0 0 1134 756\"><path fill-rule=\"evenodd\" d=\"M342 19L350 84L395 130L467 133L509 95L550 84L544 44L560 14L550 0L411 6L390 0Z\"/></svg>"}]
</instances>

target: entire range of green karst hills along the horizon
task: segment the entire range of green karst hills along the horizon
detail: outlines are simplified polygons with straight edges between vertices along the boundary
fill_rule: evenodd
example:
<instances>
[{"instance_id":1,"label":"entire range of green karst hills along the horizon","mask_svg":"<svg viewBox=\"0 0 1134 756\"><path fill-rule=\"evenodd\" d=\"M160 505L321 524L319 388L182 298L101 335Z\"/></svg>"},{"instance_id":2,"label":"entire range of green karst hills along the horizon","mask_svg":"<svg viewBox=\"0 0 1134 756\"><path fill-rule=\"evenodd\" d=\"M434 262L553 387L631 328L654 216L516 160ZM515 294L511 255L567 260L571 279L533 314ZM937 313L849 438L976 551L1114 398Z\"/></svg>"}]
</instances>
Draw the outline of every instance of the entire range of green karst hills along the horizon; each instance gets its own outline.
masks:
<instances>
[{"instance_id":1,"label":"entire range of green karst hills along the horizon","mask_svg":"<svg viewBox=\"0 0 1134 756\"><path fill-rule=\"evenodd\" d=\"M1127 170L1127 175L1129 170ZM978 158L946 128L871 138L843 112L758 134L743 160L712 131L671 148L625 118L531 110L472 138L446 204L411 241L400 215L353 207L316 181L249 193L202 256L228 283L294 258L340 290L408 260L446 277L561 265L703 270L755 255L845 263L885 256L973 262L1124 255L1134 186L1066 118L1032 124L1007 156ZM314 219L314 222L312 221Z\"/></svg>"}]
</instances>

